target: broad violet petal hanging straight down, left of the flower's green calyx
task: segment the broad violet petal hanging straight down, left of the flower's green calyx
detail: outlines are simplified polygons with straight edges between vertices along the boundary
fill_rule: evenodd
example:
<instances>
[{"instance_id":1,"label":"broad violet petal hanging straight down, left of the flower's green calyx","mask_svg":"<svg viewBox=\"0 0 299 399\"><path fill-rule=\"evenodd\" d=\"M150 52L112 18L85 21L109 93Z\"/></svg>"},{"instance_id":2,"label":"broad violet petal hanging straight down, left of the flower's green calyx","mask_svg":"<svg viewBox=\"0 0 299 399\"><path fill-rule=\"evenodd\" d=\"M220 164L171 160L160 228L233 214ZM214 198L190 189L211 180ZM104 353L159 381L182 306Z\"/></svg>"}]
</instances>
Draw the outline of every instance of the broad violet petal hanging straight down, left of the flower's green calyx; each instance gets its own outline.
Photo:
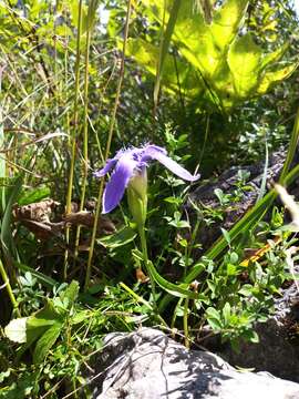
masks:
<instances>
[{"instance_id":1,"label":"broad violet petal hanging straight down, left of the flower's green calyx","mask_svg":"<svg viewBox=\"0 0 299 399\"><path fill-rule=\"evenodd\" d=\"M132 160L130 153L124 154L117 162L117 165L106 184L103 195L103 214L113 211L121 202L124 191L134 174L137 162Z\"/></svg>"}]
</instances>

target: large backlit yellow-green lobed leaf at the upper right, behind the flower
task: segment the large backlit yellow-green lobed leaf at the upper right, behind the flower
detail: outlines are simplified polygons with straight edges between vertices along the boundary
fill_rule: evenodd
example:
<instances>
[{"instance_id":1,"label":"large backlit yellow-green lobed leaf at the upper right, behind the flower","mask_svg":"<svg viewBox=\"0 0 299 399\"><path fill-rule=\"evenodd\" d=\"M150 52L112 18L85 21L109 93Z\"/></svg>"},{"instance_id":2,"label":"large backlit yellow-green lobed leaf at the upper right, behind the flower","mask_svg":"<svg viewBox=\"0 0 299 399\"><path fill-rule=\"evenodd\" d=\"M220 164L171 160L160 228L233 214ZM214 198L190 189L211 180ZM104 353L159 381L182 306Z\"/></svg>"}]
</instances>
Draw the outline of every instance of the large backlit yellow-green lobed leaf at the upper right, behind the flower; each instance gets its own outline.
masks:
<instances>
[{"instance_id":1,"label":"large backlit yellow-green lobed leaf at the upper right, behind the flower","mask_svg":"<svg viewBox=\"0 0 299 399\"><path fill-rule=\"evenodd\" d=\"M151 21L162 27L164 20L171 21L171 10L169 7L164 10L164 1L144 0L143 3ZM182 57L163 54L166 90L172 93L182 91L186 98L196 99L198 104L207 103L207 108L212 105L225 111L265 94L295 71L296 62L285 66L278 64L288 44L265 53L250 32L239 35L247 6L246 0L227 0L207 23L204 16L194 10L193 0L181 4L173 41ZM131 39L128 53L148 72L156 73L159 58L155 43Z\"/></svg>"}]
</instances>

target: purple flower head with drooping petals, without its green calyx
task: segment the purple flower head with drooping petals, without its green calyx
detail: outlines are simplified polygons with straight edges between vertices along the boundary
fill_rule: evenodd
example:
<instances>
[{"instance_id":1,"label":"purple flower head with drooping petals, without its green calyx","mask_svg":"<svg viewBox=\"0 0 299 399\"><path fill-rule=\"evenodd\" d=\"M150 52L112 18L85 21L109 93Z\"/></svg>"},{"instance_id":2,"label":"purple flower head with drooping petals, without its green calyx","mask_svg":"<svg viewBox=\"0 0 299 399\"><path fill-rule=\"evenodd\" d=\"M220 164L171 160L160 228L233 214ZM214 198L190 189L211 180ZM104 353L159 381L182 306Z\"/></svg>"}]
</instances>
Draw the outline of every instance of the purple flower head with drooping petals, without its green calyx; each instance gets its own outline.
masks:
<instances>
[{"instance_id":1,"label":"purple flower head with drooping petals, without its green calyx","mask_svg":"<svg viewBox=\"0 0 299 399\"><path fill-rule=\"evenodd\" d=\"M120 204L132 177L144 175L146 182L146 167L148 166L148 162L153 160L162 163L181 178L189 182L199 178L199 174L193 176L183 166L169 158L166 150L157 145L147 144L141 149L131 147L120 150L113 158L107 160L103 168L94 173L95 177L103 177L114 168L103 195L104 214L111 212Z\"/></svg>"}]
</instances>

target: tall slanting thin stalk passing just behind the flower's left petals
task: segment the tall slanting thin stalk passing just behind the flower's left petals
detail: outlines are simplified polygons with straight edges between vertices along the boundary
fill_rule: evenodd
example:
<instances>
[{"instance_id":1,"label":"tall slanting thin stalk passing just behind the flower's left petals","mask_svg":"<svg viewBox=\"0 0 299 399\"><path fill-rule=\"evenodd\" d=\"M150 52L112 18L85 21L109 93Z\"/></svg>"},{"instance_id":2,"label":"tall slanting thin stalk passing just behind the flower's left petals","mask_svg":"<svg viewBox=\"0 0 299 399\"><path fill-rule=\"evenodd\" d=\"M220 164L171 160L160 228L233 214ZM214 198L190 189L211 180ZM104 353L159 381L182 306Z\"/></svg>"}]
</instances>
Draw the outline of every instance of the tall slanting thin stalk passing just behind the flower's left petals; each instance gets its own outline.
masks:
<instances>
[{"instance_id":1,"label":"tall slanting thin stalk passing just behind the flower's left petals","mask_svg":"<svg viewBox=\"0 0 299 399\"><path fill-rule=\"evenodd\" d=\"M118 109L121 90L122 90L122 84L123 84L124 66L125 66L125 50L126 50L126 42L127 42L127 34L128 34L130 16L131 16L131 0L127 1L124 43L123 43L123 55L122 55L118 83L117 83L117 89L116 89L116 96L115 96L114 108L113 108L112 116L111 116L110 131L109 131L109 137L107 137L106 151L105 151L105 161L107 160L109 154L110 154L110 147L111 147L111 143L112 143L114 125L115 125L115 121L116 121L116 113L117 113L117 109ZM102 206L103 191L104 191L104 180L101 180L99 195L97 195L96 209L95 209L95 215L94 215L94 224L93 224L93 229L92 229L91 245L90 245L90 250L89 250L89 259L87 259L87 266L86 266L86 275L85 275L85 284L84 284L85 291L87 290L90 280L91 280L92 258L93 258L96 231L97 231L99 218L100 218L101 206Z\"/></svg>"}]
</instances>

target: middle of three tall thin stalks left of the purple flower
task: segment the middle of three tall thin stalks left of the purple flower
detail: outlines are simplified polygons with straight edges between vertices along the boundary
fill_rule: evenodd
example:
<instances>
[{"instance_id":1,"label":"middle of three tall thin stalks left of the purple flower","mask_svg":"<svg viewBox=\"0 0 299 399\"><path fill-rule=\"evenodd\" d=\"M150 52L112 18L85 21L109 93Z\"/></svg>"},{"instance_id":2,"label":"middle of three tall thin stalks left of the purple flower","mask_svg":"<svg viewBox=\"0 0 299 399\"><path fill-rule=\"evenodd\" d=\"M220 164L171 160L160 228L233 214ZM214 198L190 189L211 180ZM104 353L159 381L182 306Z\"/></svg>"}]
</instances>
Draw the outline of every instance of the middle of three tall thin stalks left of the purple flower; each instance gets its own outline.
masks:
<instances>
[{"instance_id":1,"label":"middle of three tall thin stalks left of the purple flower","mask_svg":"<svg viewBox=\"0 0 299 399\"><path fill-rule=\"evenodd\" d=\"M86 32L86 47L84 57L84 125L83 125L83 181L80 200L80 212L84 208L86 185L87 185L87 173L89 173L89 66L90 66L90 45L91 45L91 30ZM81 226L78 226L75 234L75 248L74 248L74 262L78 256L78 247L80 242Z\"/></svg>"}]
</instances>

